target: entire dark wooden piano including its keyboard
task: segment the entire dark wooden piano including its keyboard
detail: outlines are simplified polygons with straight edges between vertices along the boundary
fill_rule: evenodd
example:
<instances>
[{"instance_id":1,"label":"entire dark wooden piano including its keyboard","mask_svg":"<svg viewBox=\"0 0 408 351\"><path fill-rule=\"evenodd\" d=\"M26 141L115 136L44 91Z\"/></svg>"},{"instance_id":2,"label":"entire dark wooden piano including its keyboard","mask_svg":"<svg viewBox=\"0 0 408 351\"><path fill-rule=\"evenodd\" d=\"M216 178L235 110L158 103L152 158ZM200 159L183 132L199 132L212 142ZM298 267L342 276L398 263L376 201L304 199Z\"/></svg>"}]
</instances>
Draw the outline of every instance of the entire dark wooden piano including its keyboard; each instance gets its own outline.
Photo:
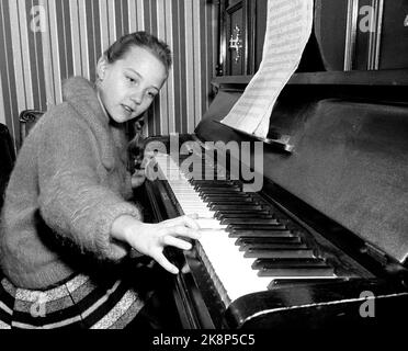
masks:
<instances>
[{"instance_id":1,"label":"entire dark wooden piano including its keyboard","mask_svg":"<svg viewBox=\"0 0 408 351\"><path fill-rule=\"evenodd\" d=\"M321 3L319 25L330 15ZM257 171L258 140L220 123L251 75L214 79L216 97L193 134L146 140L165 145L156 157L163 177L146 182L154 220L199 213L212 228L191 251L166 252L181 269L173 295L184 328L371 328L407 317L408 70L350 69L360 65L350 48L349 66L336 69L333 45L316 27L302 63L315 53L325 69L299 69L283 89L260 190L248 191L253 179L240 171ZM274 143L280 135L287 143ZM250 157L212 141L249 143ZM183 168L189 158L201 169ZM169 169L179 176L166 178Z\"/></svg>"}]
</instances>

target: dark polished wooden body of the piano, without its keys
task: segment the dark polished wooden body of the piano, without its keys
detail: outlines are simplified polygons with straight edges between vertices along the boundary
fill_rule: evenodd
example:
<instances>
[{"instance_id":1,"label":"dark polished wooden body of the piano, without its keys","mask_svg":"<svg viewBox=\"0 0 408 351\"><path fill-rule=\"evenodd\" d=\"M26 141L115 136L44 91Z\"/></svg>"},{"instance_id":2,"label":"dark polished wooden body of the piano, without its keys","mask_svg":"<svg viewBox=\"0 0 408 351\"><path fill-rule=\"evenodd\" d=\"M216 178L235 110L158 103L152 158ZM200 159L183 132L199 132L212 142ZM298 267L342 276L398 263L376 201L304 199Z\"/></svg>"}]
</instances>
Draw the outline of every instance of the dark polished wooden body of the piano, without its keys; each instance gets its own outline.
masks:
<instances>
[{"instance_id":1,"label":"dark polished wooden body of the piano, without its keys","mask_svg":"<svg viewBox=\"0 0 408 351\"><path fill-rule=\"evenodd\" d=\"M181 135L180 144L254 143L219 123L249 79L215 78L213 103L195 133ZM174 280L183 327L389 327L406 318L407 87L408 70L404 68L297 72L292 77L272 112L271 133L290 135L294 149L286 152L263 145L263 186L257 196L338 279L275 279L262 292L227 301L200 248L170 250L169 257L183 268ZM169 143L166 136L149 140ZM252 154L250 165L253 158ZM156 220L183 213L166 180L147 182L146 190ZM234 223L230 227L234 229ZM239 272L230 274L239 281ZM364 316L370 306L375 306L374 317Z\"/></svg>"}]
</instances>

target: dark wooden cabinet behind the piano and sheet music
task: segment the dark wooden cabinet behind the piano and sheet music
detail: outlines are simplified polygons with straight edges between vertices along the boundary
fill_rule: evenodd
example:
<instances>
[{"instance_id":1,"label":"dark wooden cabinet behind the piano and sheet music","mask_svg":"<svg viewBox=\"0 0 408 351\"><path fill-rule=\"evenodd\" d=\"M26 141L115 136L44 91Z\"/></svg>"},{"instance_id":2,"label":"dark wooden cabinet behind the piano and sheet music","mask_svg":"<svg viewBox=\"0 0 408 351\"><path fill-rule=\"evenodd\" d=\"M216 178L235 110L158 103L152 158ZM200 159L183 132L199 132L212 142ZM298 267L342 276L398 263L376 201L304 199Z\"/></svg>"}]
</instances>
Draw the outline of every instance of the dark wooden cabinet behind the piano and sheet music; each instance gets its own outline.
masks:
<instances>
[{"instance_id":1,"label":"dark wooden cabinet behind the piano and sheet music","mask_svg":"<svg viewBox=\"0 0 408 351\"><path fill-rule=\"evenodd\" d=\"M217 76L257 72L267 13L268 0L219 1ZM315 0L311 35L296 72L408 69L407 43L407 0Z\"/></svg>"}]
</instances>

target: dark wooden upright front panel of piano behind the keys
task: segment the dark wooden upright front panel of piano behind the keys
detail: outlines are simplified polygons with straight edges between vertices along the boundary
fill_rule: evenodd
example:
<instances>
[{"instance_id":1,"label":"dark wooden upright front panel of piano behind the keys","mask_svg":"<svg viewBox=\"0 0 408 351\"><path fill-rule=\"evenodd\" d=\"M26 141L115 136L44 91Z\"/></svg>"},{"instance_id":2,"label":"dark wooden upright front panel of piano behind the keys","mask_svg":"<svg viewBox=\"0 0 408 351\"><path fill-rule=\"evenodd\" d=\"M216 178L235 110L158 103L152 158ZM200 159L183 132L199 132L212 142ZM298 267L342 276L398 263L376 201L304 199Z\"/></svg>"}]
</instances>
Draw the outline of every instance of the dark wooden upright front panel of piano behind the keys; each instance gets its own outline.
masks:
<instances>
[{"instance_id":1,"label":"dark wooden upright front panel of piano behind the keys","mask_svg":"<svg viewBox=\"0 0 408 351\"><path fill-rule=\"evenodd\" d=\"M241 140L219 121L237 92L219 91L195 129ZM408 256L408 109L335 99L277 103L271 126L291 156L264 148L264 177L399 262Z\"/></svg>"}]
</instances>

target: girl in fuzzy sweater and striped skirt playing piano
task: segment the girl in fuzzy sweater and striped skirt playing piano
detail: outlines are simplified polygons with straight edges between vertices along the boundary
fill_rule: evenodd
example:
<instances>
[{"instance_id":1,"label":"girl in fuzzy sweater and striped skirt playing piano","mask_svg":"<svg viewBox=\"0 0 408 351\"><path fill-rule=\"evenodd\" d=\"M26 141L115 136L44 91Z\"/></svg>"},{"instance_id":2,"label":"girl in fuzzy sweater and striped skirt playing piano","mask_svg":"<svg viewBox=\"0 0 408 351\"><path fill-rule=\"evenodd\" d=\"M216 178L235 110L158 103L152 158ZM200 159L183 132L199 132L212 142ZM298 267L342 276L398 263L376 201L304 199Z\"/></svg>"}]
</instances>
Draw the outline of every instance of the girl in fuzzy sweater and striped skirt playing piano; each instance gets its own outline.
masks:
<instances>
[{"instance_id":1,"label":"girl in fuzzy sweater and striped skirt playing piano","mask_svg":"<svg viewBox=\"0 0 408 351\"><path fill-rule=\"evenodd\" d=\"M24 140L1 215L0 327L139 327L149 294L133 286L143 282L129 252L178 273L163 248L190 249L183 238L199 238L199 226L186 216L143 223L124 125L149 107L170 65L155 36L123 36L99 60L97 83L68 79L64 102Z\"/></svg>"}]
</instances>

